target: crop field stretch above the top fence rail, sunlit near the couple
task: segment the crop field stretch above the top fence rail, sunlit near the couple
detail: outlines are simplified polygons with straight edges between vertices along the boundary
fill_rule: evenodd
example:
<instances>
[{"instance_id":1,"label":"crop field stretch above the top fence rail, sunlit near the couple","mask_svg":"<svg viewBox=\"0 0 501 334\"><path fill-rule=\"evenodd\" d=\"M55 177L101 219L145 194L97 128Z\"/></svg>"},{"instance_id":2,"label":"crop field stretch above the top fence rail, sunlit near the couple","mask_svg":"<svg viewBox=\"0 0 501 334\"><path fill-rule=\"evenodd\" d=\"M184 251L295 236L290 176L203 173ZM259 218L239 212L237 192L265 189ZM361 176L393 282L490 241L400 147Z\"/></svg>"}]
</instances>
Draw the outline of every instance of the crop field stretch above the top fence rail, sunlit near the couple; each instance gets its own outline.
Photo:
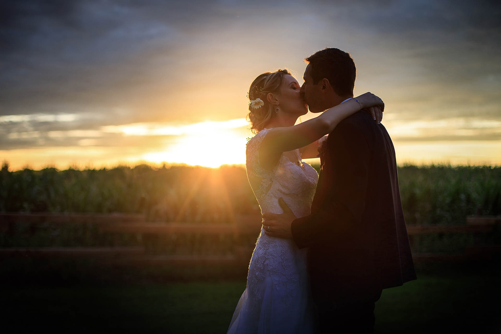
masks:
<instances>
[{"instance_id":1,"label":"crop field stretch above the top fence rail, sunlit near the couple","mask_svg":"<svg viewBox=\"0 0 501 334\"><path fill-rule=\"evenodd\" d=\"M318 166L315 166L318 168ZM501 214L501 167L401 166L407 224L462 224ZM226 222L259 212L242 166L171 166L0 172L0 211L130 212L151 221Z\"/></svg>"}]
</instances>

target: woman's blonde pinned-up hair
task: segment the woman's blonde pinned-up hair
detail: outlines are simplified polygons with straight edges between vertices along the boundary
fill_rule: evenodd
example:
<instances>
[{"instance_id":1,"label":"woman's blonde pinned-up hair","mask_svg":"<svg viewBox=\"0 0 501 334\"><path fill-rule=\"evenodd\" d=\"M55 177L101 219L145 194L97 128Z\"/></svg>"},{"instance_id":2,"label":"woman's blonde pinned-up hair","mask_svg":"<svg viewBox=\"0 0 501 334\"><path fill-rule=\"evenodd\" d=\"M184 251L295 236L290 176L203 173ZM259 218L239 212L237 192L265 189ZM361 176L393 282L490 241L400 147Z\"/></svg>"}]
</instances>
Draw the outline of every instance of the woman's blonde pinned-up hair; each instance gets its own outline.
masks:
<instances>
[{"instance_id":1,"label":"woman's blonde pinned-up hair","mask_svg":"<svg viewBox=\"0 0 501 334\"><path fill-rule=\"evenodd\" d=\"M265 104L258 109L254 109L252 104L249 104L249 113L247 118L252 125L250 130L253 133L258 133L265 128L265 124L272 118L275 112L275 106L268 102L266 96L268 93L278 93L282 80L285 75L290 75L288 70L278 70L276 72L266 72L260 74L249 87L249 101L261 99Z\"/></svg>"}]
</instances>

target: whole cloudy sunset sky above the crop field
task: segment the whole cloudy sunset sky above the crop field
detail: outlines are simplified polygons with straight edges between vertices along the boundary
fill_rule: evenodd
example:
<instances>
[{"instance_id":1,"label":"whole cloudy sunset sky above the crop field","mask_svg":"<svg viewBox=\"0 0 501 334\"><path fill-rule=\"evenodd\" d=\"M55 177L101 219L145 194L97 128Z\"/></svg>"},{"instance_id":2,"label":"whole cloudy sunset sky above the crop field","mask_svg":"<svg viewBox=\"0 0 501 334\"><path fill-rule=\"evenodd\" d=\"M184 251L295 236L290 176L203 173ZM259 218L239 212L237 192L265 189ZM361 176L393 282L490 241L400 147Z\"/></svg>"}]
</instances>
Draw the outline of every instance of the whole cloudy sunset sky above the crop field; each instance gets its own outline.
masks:
<instances>
[{"instance_id":1,"label":"whole cloudy sunset sky above the crop field","mask_svg":"<svg viewBox=\"0 0 501 334\"><path fill-rule=\"evenodd\" d=\"M325 47L386 104L399 163L501 164L498 1L4 1L12 169L243 163L249 84ZM302 117L306 120L308 114Z\"/></svg>"}]
</instances>

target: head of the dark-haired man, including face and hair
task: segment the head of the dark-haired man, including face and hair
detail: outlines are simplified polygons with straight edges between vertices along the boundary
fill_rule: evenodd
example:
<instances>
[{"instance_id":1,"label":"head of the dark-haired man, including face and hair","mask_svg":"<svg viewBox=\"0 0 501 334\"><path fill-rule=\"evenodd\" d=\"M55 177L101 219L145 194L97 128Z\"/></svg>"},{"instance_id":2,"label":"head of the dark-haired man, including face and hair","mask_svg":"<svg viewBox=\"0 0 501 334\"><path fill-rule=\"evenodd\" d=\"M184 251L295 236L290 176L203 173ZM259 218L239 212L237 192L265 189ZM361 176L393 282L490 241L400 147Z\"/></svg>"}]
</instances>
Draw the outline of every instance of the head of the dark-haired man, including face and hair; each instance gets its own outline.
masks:
<instances>
[{"instance_id":1,"label":"head of the dark-haired man, including face and hair","mask_svg":"<svg viewBox=\"0 0 501 334\"><path fill-rule=\"evenodd\" d=\"M350 54L336 48L320 50L308 63L301 94L312 113L320 113L353 97L357 70Z\"/></svg>"}]
</instances>

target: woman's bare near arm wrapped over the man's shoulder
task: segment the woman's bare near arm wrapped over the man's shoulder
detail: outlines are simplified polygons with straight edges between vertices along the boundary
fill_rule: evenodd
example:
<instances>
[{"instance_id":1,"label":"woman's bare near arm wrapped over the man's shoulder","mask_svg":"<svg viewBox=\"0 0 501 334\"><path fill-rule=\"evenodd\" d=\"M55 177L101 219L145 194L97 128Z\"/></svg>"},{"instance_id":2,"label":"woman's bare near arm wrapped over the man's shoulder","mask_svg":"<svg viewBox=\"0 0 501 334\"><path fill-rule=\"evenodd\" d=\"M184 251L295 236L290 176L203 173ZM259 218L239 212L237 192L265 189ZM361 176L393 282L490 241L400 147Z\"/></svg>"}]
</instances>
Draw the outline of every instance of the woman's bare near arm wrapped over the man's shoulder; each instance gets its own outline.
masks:
<instances>
[{"instance_id":1,"label":"woman's bare near arm wrapped over the man's shoulder","mask_svg":"<svg viewBox=\"0 0 501 334\"><path fill-rule=\"evenodd\" d=\"M359 102L351 99L332 107L306 122L270 130L259 150L261 165L268 170L273 169L282 152L292 151L319 140L332 132L339 122L360 109L372 106L381 106L384 109L384 103L374 94L365 93L357 97L357 100Z\"/></svg>"}]
</instances>

